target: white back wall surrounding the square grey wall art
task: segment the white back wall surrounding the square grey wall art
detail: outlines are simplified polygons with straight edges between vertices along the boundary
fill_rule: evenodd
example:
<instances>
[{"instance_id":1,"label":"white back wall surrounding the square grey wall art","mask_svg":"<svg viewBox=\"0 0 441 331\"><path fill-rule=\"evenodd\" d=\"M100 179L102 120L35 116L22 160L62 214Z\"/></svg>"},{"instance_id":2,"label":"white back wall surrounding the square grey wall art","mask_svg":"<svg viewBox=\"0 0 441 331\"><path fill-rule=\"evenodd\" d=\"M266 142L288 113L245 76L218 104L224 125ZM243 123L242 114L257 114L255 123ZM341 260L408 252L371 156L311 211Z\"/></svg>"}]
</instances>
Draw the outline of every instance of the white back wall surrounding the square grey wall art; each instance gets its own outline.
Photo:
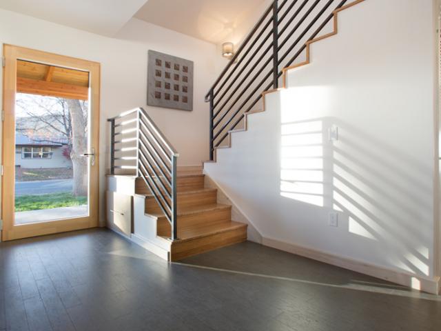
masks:
<instances>
[{"instance_id":1,"label":"white back wall surrounding the square grey wall art","mask_svg":"<svg viewBox=\"0 0 441 331\"><path fill-rule=\"evenodd\" d=\"M146 110L181 154L181 165L198 165L207 159L208 106L204 95L222 61L216 46L137 19L132 19L117 38L112 39L7 10L0 10L0 43L101 63L101 221L104 220L104 175L109 150L106 119L124 110L145 106L147 50L194 61L194 110L152 107Z\"/></svg>"}]
</instances>

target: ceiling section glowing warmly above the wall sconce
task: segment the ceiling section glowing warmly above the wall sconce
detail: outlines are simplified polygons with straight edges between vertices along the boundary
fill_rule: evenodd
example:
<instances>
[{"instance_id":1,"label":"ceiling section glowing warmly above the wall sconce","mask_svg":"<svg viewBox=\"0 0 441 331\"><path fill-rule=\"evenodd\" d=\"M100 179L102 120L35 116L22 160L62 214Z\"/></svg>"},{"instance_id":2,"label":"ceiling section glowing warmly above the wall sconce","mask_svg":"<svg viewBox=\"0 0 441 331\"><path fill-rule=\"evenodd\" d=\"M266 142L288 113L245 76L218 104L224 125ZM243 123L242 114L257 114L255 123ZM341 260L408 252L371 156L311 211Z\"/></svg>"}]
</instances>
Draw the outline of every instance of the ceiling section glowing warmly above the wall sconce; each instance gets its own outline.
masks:
<instances>
[{"instance_id":1,"label":"ceiling section glowing warmly above the wall sconce","mask_svg":"<svg viewBox=\"0 0 441 331\"><path fill-rule=\"evenodd\" d=\"M148 0L135 17L210 43L220 43L264 1Z\"/></svg>"}]
</instances>

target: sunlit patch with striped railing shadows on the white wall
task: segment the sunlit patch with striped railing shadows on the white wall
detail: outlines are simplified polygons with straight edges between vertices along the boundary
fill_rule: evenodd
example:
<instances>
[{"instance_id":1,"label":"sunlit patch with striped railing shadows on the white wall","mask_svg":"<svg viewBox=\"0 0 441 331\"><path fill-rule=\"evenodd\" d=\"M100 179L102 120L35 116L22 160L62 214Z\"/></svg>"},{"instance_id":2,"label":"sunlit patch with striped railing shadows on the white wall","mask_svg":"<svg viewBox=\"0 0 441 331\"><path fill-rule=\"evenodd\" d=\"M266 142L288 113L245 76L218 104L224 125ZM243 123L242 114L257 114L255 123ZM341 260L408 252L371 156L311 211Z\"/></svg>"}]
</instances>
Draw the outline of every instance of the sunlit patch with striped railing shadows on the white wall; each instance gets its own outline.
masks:
<instances>
[{"instance_id":1,"label":"sunlit patch with striped railing shadows on the white wall","mask_svg":"<svg viewBox=\"0 0 441 331\"><path fill-rule=\"evenodd\" d=\"M334 142L333 126L341 136ZM340 227L386 247L385 259L398 268L426 276L429 174L424 163L334 117L281 124L280 195L339 212Z\"/></svg>"}]
</instances>

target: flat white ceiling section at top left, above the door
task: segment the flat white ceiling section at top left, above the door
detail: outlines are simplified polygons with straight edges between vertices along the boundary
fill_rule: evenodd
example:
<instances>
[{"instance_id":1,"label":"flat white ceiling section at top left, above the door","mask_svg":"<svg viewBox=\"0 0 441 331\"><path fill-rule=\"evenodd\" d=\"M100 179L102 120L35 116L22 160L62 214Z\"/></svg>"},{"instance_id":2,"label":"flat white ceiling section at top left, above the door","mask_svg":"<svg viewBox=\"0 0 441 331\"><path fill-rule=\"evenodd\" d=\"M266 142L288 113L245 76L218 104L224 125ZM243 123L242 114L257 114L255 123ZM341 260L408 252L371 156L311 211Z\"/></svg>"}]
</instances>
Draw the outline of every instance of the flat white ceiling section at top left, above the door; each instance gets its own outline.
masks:
<instances>
[{"instance_id":1,"label":"flat white ceiling section at top left, above the door","mask_svg":"<svg viewBox=\"0 0 441 331\"><path fill-rule=\"evenodd\" d=\"M113 37L147 0L0 0L0 8Z\"/></svg>"}]
</instances>

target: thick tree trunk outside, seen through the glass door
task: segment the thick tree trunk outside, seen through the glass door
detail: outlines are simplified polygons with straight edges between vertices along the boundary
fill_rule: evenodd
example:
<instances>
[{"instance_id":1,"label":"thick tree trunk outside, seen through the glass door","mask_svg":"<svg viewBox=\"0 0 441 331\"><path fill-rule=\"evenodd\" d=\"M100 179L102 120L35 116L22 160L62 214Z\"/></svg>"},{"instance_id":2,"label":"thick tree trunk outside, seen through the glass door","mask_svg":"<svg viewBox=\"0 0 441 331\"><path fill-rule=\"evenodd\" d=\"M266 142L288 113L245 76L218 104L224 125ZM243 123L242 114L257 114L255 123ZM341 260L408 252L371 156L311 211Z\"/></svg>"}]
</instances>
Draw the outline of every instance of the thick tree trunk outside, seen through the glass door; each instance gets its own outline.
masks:
<instances>
[{"instance_id":1,"label":"thick tree trunk outside, seen through the glass door","mask_svg":"<svg viewBox=\"0 0 441 331\"><path fill-rule=\"evenodd\" d=\"M72 194L75 197L88 195L88 157L81 154L88 152L87 117L78 100L66 99L72 121L72 160L74 183Z\"/></svg>"}]
</instances>

